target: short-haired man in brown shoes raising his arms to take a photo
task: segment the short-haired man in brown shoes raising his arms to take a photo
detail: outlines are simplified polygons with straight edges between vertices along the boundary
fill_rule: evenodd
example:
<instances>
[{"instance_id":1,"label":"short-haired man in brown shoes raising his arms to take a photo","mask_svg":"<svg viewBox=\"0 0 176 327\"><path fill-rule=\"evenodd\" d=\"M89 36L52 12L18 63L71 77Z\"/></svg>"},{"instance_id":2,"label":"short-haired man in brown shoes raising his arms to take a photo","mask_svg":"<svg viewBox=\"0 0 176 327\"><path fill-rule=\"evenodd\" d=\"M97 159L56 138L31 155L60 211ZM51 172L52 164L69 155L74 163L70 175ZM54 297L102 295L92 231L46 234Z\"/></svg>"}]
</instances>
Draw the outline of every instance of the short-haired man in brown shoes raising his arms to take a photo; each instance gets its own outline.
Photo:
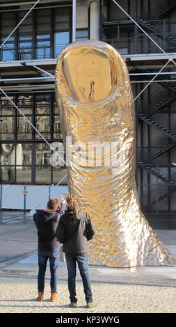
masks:
<instances>
[{"instance_id":1,"label":"short-haired man in brown shoes raising his arms to take a photo","mask_svg":"<svg viewBox=\"0 0 176 327\"><path fill-rule=\"evenodd\" d=\"M58 281L59 247L61 244L56 239L56 228L59 218L64 213L65 206L63 202L62 199L60 206L58 199L50 199L44 210L39 210L33 215L33 220L38 230L38 301L44 301L45 271L48 259L51 271L50 301L54 302L58 300L56 287Z\"/></svg>"}]
</instances>

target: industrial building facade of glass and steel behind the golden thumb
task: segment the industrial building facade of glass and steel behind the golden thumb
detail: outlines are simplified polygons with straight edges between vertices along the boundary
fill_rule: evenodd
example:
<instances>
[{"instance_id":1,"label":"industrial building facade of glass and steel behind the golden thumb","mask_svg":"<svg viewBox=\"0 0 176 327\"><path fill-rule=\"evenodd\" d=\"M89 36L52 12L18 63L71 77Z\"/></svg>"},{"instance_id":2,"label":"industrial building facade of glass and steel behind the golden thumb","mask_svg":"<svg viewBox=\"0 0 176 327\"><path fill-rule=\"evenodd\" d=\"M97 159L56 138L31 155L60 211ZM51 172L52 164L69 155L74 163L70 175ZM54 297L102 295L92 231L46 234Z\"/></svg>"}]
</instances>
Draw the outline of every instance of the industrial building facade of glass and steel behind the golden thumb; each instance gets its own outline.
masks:
<instances>
[{"instance_id":1,"label":"industrial building facade of glass and steel behind the golden thumb","mask_svg":"<svg viewBox=\"0 0 176 327\"><path fill-rule=\"evenodd\" d=\"M20 111L49 143L62 142L52 77L56 59L70 42L90 38L113 45L125 58L135 99L141 207L153 227L175 228L175 1L35 3L0 1L0 88L8 95L0 93L1 207L6 208L2 198L7 184L42 187L56 185L65 176L67 168L51 166L49 146ZM62 184L67 185L66 177Z\"/></svg>"}]
</instances>

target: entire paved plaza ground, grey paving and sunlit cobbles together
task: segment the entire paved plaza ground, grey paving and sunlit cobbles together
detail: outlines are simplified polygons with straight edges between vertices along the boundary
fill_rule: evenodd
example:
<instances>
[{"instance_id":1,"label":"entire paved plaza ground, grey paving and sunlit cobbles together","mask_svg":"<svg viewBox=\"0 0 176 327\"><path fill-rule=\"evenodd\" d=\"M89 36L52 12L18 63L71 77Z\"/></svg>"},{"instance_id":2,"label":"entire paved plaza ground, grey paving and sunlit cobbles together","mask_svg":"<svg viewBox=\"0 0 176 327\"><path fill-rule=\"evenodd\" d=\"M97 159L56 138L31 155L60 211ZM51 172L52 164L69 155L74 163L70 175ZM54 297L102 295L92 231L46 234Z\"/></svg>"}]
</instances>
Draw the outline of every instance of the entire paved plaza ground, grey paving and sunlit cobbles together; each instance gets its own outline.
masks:
<instances>
[{"instance_id":1,"label":"entire paved plaza ground, grey paving and sunlit cobbles together","mask_svg":"<svg viewBox=\"0 0 176 327\"><path fill-rule=\"evenodd\" d=\"M170 246L170 249L176 248L175 230L156 232L166 246ZM88 310L79 273L78 308L68 307L70 300L66 282L67 271L66 267L61 266L58 303L49 302L49 273L46 274L45 282L46 300L39 303L35 301L38 266L35 260L30 262L30 258L33 258L33 255L35 257L37 246L37 232L32 217L29 218L22 212L0 212L0 313L176 312L175 267L137 267L121 270L90 266L93 299L97 302L97 307Z\"/></svg>"}]
</instances>

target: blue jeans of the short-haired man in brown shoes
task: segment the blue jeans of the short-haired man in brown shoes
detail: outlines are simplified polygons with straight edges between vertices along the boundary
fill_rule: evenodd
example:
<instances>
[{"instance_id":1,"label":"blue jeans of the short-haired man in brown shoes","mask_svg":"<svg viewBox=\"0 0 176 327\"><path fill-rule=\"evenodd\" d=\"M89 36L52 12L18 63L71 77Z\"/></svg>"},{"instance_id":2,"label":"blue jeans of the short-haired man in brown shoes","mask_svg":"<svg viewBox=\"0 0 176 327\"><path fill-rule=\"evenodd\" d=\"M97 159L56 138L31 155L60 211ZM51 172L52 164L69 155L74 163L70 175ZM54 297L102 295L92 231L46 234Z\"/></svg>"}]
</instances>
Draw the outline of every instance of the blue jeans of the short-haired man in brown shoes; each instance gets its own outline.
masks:
<instances>
[{"instance_id":1,"label":"blue jeans of the short-haired man in brown shoes","mask_svg":"<svg viewBox=\"0 0 176 327\"><path fill-rule=\"evenodd\" d=\"M50 287L51 292L57 292L58 282L58 261L59 251L38 251L38 292L44 292L45 289L45 271L47 269L47 260L50 263L51 280Z\"/></svg>"}]
</instances>

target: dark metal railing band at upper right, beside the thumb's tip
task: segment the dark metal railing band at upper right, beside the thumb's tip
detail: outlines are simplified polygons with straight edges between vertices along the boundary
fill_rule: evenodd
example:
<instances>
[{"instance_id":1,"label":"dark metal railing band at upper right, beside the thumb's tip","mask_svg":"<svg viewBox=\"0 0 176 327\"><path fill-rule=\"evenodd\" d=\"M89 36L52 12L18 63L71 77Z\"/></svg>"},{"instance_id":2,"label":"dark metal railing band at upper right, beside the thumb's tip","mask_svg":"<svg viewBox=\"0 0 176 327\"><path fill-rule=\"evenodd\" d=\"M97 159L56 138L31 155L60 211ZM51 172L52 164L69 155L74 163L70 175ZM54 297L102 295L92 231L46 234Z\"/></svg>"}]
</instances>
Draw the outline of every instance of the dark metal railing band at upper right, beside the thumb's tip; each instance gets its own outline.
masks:
<instances>
[{"instance_id":1,"label":"dark metal railing band at upper right, beside the thumb's tip","mask_svg":"<svg viewBox=\"0 0 176 327\"><path fill-rule=\"evenodd\" d=\"M147 29L147 34L154 42L166 52L175 52L176 19L159 19L148 22L150 25L154 26ZM121 24L120 21L111 22L111 25L106 25L106 23L104 23L102 27L102 35L104 35L102 40L113 45L122 55L161 53L161 49L159 49L138 26L130 24L129 32L127 32L129 21L122 23L123 24ZM113 32L111 32L112 26ZM123 30L124 28L125 30ZM125 35L127 35L127 38L124 37Z\"/></svg>"}]
</instances>

